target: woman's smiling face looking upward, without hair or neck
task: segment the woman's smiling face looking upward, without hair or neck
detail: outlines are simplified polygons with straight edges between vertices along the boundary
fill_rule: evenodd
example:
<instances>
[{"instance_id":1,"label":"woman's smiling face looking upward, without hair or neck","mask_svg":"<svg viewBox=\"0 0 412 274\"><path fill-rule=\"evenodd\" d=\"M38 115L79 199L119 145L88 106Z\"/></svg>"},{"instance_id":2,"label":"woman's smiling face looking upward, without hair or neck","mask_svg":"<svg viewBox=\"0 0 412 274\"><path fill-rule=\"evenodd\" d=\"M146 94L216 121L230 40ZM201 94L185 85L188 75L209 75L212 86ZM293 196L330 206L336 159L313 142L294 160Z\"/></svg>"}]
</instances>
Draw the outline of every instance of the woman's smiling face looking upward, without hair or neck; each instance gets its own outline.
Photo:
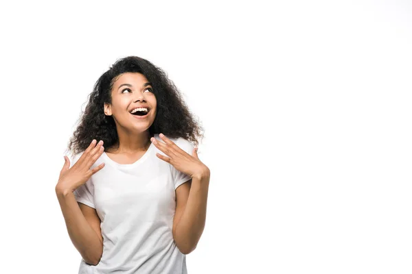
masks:
<instances>
[{"instance_id":1,"label":"woman's smiling face looking upward, without hair or neck","mask_svg":"<svg viewBox=\"0 0 412 274\"><path fill-rule=\"evenodd\" d=\"M113 84L111 91L112 103L104 103L104 114L113 115L117 127L124 127L133 132L148 130L156 116L156 97L148 79L141 73L123 73ZM134 115L130 112L135 108L147 108L144 116Z\"/></svg>"}]
</instances>

